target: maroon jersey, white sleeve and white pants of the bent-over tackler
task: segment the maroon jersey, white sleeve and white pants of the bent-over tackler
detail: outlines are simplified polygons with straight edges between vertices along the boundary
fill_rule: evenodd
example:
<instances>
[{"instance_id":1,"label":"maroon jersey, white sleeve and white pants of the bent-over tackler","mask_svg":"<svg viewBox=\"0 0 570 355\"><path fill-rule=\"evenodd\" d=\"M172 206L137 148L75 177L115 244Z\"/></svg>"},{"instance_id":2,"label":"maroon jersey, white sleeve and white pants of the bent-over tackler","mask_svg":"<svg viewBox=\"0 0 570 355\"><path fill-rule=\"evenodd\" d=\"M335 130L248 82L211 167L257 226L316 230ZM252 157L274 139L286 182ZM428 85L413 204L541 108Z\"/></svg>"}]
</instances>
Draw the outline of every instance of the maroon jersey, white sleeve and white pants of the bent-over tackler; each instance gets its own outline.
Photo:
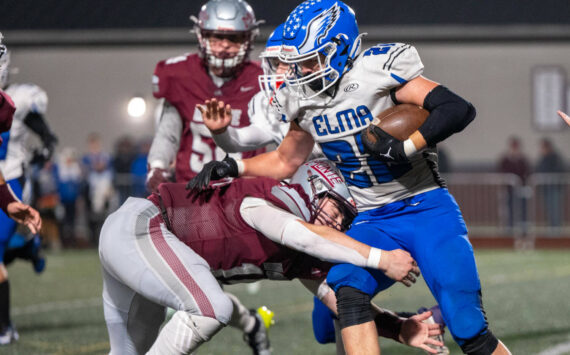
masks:
<instances>
[{"instance_id":1,"label":"maroon jersey, white sleeve and white pants of the bent-over tackler","mask_svg":"<svg viewBox=\"0 0 570 355\"><path fill-rule=\"evenodd\" d=\"M298 222L310 216L299 185L270 178L228 180L199 195L162 184L149 199L129 198L105 221L99 244L111 354L151 349L165 306L177 316L155 345L180 335L180 324L223 327L233 306L218 280L324 280L321 260L366 266L355 250Z\"/></svg>"}]
</instances>

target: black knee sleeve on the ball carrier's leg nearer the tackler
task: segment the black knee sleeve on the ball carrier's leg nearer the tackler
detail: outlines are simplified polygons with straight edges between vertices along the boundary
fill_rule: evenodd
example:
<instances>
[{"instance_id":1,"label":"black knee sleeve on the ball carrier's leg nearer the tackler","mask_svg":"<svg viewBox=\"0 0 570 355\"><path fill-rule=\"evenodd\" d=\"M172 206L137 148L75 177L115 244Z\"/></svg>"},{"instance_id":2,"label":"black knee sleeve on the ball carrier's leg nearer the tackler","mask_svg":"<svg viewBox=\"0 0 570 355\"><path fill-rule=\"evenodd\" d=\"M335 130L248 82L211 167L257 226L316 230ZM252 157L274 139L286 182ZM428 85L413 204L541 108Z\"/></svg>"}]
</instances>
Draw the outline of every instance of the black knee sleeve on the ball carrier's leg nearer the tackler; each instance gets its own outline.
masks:
<instances>
[{"instance_id":1,"label":"black knee sleeve on the ball carrier's leg nearer the tackler","mask_svg":"<svg viewBox=\"0 0 570 355\"><path fill-rule=\"evenodd\" d=\"M336 307L341 329L373 320L370 296L352 287L341 287L336 292Z\"/></svg>"}]
</instances>

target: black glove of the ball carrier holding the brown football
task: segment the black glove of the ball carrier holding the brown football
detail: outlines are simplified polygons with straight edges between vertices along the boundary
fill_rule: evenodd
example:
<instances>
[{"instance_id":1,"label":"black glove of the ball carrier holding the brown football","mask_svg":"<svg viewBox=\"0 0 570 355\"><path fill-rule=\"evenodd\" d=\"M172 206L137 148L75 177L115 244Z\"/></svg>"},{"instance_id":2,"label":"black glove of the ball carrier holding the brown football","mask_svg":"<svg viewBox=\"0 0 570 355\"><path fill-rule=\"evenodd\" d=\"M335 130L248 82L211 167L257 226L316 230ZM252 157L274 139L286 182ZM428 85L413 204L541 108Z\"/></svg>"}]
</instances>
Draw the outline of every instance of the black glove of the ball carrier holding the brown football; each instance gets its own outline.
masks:
<instances>
[{"instance_id":1,"label":"black glove of the ball carrier holding the brown football","mask_svg":"<svg viewBox=\"0 0 570 355\"><path fill-rule=\"evenodd\" d=\"M409 161L404 152L404 142L392 137L382 128L371 124L362 133L366 152L383 162L404 163Z\"/></svg>"}]
</instances>

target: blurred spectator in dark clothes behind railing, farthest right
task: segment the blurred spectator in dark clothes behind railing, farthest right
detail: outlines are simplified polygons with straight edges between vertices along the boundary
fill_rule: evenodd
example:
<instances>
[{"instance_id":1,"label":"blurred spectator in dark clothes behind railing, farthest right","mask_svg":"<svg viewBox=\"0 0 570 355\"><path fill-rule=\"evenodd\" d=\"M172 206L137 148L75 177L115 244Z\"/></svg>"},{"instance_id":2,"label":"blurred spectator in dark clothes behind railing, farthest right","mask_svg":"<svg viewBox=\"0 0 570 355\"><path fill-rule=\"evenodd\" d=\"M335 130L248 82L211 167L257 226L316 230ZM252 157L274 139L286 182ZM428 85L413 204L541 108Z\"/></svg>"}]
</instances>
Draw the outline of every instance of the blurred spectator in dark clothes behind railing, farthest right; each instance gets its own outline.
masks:
<instances>
[{"instance_id":1,"label":"blurred spectator in dark clothes behind railing, farthest right","mask_svg":"<svg viewBox=\"0 0 570 355\"><path fill-rule=\"evenodd\" d=\"M563 173L565 171L564 160L554 148L548 138L540 141L540 158L536 165L537 173ZM564 185L562 181L552 179L550 183L540 186L537 191L544 203L546 218L551 226L562 225L562 212L564 211Z\"/></svg>"}]
</instances>

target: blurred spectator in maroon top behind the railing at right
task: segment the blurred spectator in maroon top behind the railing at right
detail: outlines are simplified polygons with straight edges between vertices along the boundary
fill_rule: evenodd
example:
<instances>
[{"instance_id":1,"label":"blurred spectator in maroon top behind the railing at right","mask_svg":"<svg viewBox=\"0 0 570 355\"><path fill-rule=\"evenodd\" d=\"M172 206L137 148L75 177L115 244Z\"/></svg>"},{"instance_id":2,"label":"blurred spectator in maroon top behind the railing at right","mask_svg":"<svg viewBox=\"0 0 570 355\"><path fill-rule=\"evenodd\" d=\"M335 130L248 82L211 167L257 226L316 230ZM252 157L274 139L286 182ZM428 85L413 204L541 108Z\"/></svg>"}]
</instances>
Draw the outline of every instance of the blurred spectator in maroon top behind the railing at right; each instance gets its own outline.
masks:
<instances>
[{"instance_id":1,"label":"blurred spectator in maroon top behind the railing at right","mask_svg":"<svg viewBox=\"0 0 570 355\"><path fill-rule=\"evenodd\" d=\"M501 173L515 174L521 178L522 184L530 174L529 160L522 152L519 137L509 138L508 149L499 160L498 171ZM517 224L526 223L526 200L519 196L512 187L507 189L508 223L513 227Z\"/></svg>"}]
</instances>

